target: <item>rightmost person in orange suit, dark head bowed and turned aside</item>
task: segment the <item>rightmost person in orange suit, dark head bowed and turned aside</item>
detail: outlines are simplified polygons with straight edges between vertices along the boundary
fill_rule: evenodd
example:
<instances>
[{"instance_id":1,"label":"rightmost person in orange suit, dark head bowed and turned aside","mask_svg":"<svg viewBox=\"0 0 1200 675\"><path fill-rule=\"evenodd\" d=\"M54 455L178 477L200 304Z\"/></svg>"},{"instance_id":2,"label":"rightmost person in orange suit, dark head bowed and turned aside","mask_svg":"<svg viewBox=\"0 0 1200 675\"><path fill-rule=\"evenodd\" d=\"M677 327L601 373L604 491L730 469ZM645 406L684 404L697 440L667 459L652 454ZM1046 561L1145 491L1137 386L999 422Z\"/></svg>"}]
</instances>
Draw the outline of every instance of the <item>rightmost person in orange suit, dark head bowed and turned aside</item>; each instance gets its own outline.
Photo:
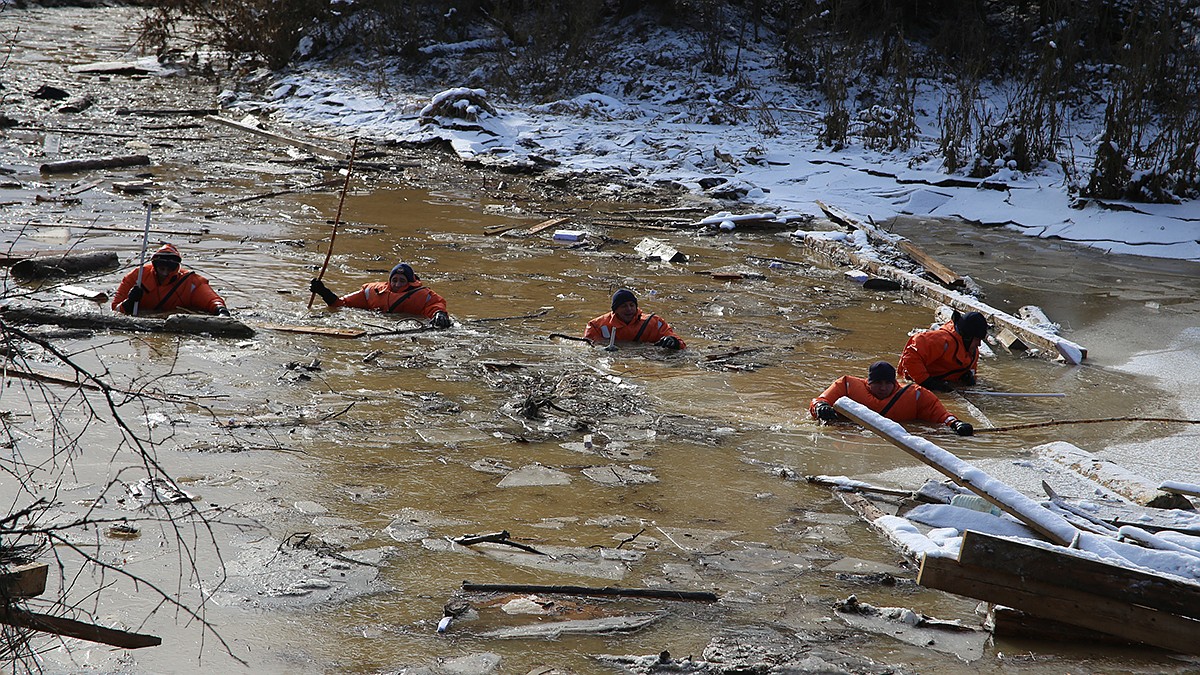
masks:
<instances>
[{"instance_id":1,"label":"rightmost person in orange suit, dark head bowed and turned aside","mask_svg":"<svg viewBox=\"0 0 1200 675\"><path fill-rule=\"evenodd\" d=\"M979 366L979 342L988 336L988 319L979 312L960 315L936 330L908 339L900 353L900 377L935 392L953 392L954 384L971 387Z\"/></svg>"}]
</instances>

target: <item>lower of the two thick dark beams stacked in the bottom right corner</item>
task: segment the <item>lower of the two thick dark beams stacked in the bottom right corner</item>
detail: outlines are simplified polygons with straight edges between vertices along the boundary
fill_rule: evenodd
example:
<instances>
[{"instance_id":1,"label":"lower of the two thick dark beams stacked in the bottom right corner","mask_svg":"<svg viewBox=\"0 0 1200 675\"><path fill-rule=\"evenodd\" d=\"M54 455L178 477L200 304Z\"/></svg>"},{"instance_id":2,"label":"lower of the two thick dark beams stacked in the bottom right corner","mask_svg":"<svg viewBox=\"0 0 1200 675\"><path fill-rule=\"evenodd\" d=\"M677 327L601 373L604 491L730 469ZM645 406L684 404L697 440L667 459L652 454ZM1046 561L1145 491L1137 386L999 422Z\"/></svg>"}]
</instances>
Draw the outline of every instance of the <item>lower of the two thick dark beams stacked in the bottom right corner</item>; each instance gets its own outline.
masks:
<instances>
[{"instance_id":1,"label":"lower of the two thick dark beams stacked in the bottom right corner","mask_svg":"<svg viewBox=\"0 0 1200 675\"><path fill-rule=\"evenodd\" d=\"M1200 622L1057 584L925 556L917 583L929 589L1004 604L1180 653L1200 653Z\"/></svg>"}]
</instances>

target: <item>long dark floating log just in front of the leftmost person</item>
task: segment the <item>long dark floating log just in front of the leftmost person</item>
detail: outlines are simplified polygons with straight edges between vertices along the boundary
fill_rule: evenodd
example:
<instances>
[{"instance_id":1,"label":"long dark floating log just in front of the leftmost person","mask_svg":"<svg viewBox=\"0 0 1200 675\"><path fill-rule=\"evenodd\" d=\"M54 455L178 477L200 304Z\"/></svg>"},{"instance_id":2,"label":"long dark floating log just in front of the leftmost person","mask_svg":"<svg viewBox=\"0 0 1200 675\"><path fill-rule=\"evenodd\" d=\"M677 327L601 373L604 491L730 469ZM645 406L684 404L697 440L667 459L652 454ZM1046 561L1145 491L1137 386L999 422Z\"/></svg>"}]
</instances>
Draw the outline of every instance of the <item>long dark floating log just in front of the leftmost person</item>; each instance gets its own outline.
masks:
<instances>
[{"instance_id":1,"label":"long dark floating log just in front of the leftmost person","mask_svg":"<svg viewBox=\"0 0 1200 675\"><path fill-rule=\"evenodd\" d=\"M134 333L191 333L252 338L254 329L229 317L178 313L166 318L121 313L72 312L50 306L0 305L0 316L14 323L52 324L64 328L131 330Z\"/></svg>"}]
</instances>

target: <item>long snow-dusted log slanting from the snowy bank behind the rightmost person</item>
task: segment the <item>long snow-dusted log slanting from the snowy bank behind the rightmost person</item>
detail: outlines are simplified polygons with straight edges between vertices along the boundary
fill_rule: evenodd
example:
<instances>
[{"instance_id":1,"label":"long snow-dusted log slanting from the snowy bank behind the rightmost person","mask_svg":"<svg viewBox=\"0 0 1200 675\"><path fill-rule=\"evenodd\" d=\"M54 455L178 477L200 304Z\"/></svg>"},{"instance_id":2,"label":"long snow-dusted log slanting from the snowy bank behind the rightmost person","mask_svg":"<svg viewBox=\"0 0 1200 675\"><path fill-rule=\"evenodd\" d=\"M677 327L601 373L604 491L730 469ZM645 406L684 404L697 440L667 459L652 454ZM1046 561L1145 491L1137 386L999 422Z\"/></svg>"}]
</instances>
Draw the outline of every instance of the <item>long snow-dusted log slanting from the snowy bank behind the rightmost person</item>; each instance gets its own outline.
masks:
<instances>
[{"instance_id":1,"label":"long snow-dusted log slanting from the snowy bank behind the rightmost person","mask_svg":"<svg viewBox=\"0 0 1200 675\"><path fill-rule=\"evenodd\" d=\"M800 239L799 243L814 252L838 263L863 268L877 276L898 281L905 288L910 288L916 292L917 297L920 298L922 301L928 303L930 306L936 307L938 305L949 305L962 312L977 311L984 315L994 325L1007 327L1014 334L1019 335L1025 344L1036 345L1046 350L1050 354L1060 354L1063 360L1069 364L1074 365L1087 358L1087 350L1075 342L1051 333L1046 333L1037 327L1031 327L1024 321L1020 321L1009 313L1002 312L971 295L943 288L941 285L922 279L916 274L910 274L901 269L896 269L895 267L871 259L868 256L863 256L857 251L848 249L840 241L832 241L816 237L805 237Z\"/></svg>"}]
</instances>

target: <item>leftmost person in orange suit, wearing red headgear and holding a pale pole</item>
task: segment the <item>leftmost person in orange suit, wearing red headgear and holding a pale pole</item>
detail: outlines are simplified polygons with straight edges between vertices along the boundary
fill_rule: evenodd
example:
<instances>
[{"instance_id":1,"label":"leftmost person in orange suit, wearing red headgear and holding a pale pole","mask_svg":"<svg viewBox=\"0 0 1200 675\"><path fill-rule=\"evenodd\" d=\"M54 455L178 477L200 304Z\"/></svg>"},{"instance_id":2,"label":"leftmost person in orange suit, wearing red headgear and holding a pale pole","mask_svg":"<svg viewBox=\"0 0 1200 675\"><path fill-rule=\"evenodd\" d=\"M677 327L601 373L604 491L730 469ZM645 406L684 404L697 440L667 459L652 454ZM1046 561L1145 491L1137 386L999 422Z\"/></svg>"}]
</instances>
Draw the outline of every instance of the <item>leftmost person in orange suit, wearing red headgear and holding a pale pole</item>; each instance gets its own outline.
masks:
<instances>
[{"instance_id":1,"label":"leftmost person in orange suit, wearing red headgear and holding a pale pole","mask_svg":"<svg viewBox=\"0 0 1200 675\"><path fill-rule=\"evenodd\" d=\"M121 313L161 313L182 309L229 316L224 300L209 286L209 280L181 267L182 259L175 246L163 244L150 256L149 263L130 270L121 279L113 295L113 309Z\"/></svg>"}]
</instances>

